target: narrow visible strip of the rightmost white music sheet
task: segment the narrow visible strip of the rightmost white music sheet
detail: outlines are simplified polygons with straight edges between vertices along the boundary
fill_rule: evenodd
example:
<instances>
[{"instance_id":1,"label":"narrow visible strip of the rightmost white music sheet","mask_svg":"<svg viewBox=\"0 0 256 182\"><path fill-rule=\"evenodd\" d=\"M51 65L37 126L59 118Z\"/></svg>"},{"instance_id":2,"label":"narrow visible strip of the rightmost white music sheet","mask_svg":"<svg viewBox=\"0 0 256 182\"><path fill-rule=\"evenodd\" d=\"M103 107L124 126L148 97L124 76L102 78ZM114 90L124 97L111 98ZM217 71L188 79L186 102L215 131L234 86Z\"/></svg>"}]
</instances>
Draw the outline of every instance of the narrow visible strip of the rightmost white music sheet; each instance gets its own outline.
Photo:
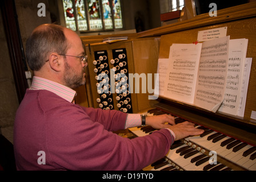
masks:
<instances>
[{"instance_id":1,"label":"narrow visible strip of the rightmost white music sheet","mask_svg":"<svg viewBox=\"0 0 256 182\"><path fill-rule=\"evenodd\" d=\"M247 89L249 84L252 62L253 62L253 58L251 57L245 59L245 67L243 71L243 81L242 81L243 84L242 84L240 102L239 102L238 113L237 113L237 115L240 117L243 117L243 115L245 114L246 96L247 96Z\"/></svg>"}]
</instances>

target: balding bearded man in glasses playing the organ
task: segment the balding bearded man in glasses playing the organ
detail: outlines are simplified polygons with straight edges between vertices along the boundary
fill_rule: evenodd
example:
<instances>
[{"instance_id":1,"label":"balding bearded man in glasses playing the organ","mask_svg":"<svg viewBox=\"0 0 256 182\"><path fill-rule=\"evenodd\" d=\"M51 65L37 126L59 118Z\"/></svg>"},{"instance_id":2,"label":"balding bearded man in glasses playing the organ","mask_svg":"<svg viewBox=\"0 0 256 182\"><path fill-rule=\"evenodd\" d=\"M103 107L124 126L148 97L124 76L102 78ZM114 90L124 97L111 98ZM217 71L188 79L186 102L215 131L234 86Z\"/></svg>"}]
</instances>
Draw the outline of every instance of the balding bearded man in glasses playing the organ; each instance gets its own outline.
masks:
<instances>
[{"instance_id":1,"label":"balding bearded man in glasses playing the organ","mask_svg":"<svg viewBox=\"0 0 256 182\"><path fill-rule=\"evenodd\" d=\"M74 31L55 24L35 28L26 56L34 78L15 118L18 170L139 170L165 156L174 140L203 132L160 115L146 117L146 125L161 130L122 138L111 131L141 125L139 114L73 104L72 88L85 84L87 65Z\"/></svg>"}]
</instances>

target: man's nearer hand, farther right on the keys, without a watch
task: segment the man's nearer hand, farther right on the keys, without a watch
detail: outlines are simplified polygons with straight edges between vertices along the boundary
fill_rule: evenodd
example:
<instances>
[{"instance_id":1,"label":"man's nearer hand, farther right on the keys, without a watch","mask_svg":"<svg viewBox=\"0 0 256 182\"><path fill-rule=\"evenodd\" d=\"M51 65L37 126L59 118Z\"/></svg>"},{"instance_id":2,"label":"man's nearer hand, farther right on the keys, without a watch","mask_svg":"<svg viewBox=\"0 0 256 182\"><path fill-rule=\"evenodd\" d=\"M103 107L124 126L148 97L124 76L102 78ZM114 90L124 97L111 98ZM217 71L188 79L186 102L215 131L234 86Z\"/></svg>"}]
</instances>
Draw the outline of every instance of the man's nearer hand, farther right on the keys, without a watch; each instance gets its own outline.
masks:
<instances>
[{"instance_id":1,"label":"man's nearer hand, farther right on the keys, without a watch","mask_svg":"<svg viewBox=\"0 0 256 182\"><path fill-rule=\"evenodd\" d=\"M194 124L188 121L168 127L175 134L175 140L179 140L190 135L201 135L204 130L194 127Z\"/></svg>"}]
</instances>

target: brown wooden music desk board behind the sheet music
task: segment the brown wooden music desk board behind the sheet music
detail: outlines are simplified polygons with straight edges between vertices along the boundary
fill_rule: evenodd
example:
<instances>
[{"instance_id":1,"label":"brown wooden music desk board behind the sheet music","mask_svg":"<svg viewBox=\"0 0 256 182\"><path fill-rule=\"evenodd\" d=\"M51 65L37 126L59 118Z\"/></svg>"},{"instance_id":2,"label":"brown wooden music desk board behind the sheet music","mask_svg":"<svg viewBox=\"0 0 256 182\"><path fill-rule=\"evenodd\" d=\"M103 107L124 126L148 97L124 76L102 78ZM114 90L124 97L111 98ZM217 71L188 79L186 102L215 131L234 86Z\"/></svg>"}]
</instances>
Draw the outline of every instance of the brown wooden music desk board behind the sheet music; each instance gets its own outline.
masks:
<instances>
[{"instance_id":1,"label":"brown wooden music desk board behind the sheet music","mask_svg":"<svg viewBox=\"0 0 256 182\"><path fill-rule=\"evenodd\" d=\"M179 32L173 32L172 34L162 35L159 58L169 57L171 44L193 43L197 40L198 31L219 27L227 27L227 35L230 35L230 39L249 39L247 57L253 57L253 63L251 65L251 74L249 89L247 93L245 117L243 119L245 119L245 122L255 122L253 119L250 119L250 115L252 110L256 110L256 36L254 32L256 28L256 18L241 19L233 22L219 23L214 26L193 28L190 30L184 30Z\"/></svg>"}]
</instances>

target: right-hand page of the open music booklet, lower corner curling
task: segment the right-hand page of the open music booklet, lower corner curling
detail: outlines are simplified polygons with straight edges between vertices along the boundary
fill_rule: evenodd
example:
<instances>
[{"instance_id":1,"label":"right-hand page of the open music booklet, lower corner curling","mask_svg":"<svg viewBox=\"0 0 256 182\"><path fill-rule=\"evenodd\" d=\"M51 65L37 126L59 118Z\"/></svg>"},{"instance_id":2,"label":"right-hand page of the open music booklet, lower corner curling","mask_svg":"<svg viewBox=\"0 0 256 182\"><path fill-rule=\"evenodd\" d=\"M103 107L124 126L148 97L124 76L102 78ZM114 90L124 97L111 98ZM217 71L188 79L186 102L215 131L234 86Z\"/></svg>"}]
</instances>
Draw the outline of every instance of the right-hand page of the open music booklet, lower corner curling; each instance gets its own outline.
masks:
<instances>
[{"instance_id":1,"label":"right-hand page of the open music booklet, lower corner curling","mask_svg":"<svg viewBox=\"0 0 256 182\"><path fill-rule=\"evenodd\" d=\"M226 87L229 36L203 42L194 104L217 111Z\"/></svg>"}]
</instances>

